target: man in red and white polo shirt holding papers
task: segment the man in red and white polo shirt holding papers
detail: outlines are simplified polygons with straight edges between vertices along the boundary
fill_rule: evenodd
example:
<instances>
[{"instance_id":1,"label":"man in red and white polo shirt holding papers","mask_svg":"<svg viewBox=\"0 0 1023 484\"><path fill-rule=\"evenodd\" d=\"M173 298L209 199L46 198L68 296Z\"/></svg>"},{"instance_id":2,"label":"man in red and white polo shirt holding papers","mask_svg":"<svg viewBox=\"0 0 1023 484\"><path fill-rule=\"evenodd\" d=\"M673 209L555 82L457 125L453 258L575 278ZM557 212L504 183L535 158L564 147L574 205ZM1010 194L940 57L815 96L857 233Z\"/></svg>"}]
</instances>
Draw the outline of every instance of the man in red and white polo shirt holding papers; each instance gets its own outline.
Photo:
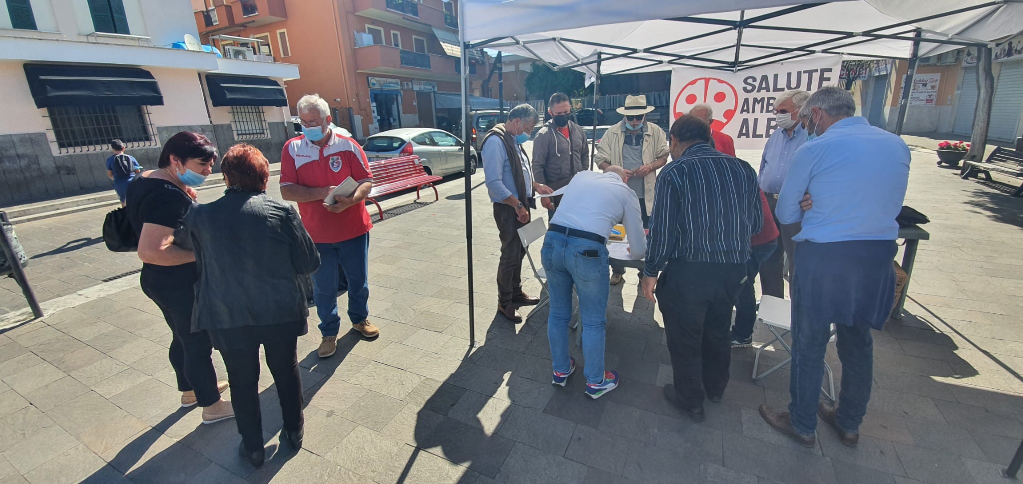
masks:
<instances>
[{"instance_id":1,"label":"man in red and white polo shirt holding papers","mask_svg":"<svg viewBox=\"0 0 1023 484\"><path fill-rule=\"evenodd\" d=\"M369 222L365 199L373 186L366 154L355 140L333 130L329 105L316 94L299 99L302 135L287 140L280 153L280 195L299 202L299 213L320 255L313 274L313 300L323 339L317 354L330 356L338 349L338 288L348 290L348 318L352 329L367 338L380 330L369 316L367 283ZM349 177L358 183L355 193L323 199ZM344 276L340 281L339 272Z\"/></svg>"}]
</instances>

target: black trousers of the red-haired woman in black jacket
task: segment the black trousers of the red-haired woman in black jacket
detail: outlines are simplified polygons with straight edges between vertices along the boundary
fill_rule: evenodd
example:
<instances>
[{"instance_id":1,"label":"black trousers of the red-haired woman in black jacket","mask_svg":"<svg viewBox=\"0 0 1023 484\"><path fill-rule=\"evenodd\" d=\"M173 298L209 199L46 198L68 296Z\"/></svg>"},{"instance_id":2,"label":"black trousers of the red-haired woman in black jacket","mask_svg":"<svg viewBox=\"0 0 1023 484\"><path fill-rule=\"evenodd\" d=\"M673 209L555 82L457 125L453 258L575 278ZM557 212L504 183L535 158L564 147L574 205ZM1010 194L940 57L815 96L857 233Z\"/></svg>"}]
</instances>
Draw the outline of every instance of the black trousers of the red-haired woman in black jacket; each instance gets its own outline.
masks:
<instances>
[{"instance_id":1,"label":"black trousers of the red-haired woman in black jacket","mask_svg":"<svg viewBox=\"0 0 1023 484\"><path fill-rule=\"evenodd\" d=\"M299 430L304 421L302 380L299 377L299 357L296 352L298 338L267 333L261 335L258 342L266 351L266 366L277 386L284 430ZM241 434L241 442L250 450L263 448L263 416L259 405L259 345L221 349L220 355L224 358L227 378L231 383L234 423Z\"/></svg>"}]
</instances>

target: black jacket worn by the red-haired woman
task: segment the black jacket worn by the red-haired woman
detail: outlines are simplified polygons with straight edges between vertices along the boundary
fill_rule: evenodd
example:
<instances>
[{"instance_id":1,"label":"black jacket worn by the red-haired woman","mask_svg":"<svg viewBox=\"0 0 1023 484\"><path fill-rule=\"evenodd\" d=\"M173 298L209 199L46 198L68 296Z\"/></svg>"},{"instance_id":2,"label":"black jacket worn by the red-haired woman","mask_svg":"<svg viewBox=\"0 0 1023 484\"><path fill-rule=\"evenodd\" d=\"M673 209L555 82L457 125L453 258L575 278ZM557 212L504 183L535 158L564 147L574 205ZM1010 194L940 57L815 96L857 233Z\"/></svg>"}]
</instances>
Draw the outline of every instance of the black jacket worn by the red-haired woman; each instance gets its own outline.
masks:
<instances>
[{"instance_id":1,"label":"black jacket worn by the red-haired woman","mask_svg":"<svg viewBox=\"0 0 1023 484\"><path fill-rule=\"evenodd\" d=\"M193 205L175 243L195 252L192 330L305 321L305 279L319 253L299 213L262 192L228 190Z\"/></svg>"}]
</instances>

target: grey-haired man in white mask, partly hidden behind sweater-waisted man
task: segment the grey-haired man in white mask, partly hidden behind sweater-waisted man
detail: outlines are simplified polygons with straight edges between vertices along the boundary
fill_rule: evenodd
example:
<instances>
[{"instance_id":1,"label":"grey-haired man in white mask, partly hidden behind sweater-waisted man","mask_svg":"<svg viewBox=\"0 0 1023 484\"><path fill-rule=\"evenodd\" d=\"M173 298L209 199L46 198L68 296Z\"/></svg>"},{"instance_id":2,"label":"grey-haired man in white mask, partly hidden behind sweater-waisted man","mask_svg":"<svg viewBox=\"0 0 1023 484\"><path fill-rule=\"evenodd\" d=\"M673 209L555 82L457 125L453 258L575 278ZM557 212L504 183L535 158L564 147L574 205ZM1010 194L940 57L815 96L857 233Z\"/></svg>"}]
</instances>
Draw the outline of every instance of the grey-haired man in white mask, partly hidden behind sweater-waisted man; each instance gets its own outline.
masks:
<instances>
[{"instance_id":1,"label":"grey-haired man in white mask, partly hidden behind sweater-waisted man","mask_svg":"<svg viewBox=\"0 0 1023 484\"><path fill-rule=\"evenodd\" d=\"M782 93L774 100L774 124L777 129L764 145L758 172L760 189L767 197L771 213L775 213L777 194L782 191L782 184L785 183L785 178L792 166L792 158L796 150L806 142L806 130L799 123L797 115L809 97L808 92L793 89ZM792 256L796 249L792 236L799 233L799 223L782 224L775 213L774 224L779 226L779 243L782 246L760 265L760 288L769 296L785 297L785 276L792 273Z\"/></svg>"}]
</instances>

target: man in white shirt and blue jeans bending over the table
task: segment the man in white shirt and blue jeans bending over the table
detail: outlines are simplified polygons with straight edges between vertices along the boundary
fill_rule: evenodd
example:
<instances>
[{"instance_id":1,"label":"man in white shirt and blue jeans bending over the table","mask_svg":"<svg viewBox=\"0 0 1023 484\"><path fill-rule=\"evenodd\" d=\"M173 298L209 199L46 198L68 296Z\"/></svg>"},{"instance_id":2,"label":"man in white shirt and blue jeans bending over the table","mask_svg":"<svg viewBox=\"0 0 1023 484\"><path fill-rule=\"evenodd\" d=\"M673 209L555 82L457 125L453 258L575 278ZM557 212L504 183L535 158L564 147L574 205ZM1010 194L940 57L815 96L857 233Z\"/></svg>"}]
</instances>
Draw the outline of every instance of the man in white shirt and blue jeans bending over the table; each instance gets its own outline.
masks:
<instances>
[{"instance_id":1,"label":"man in white shirt and blue jeans bending over the table","mask_svg":"<svg viewBox=\"0 0 1023 484\"><path fill-rule=\"evenodd\" d=\"M564 196L540 250L550 292L547 339L553 359L551 383L564 387L569 375L575 372L575 358L569 356L569 321L575 286L582 320L582 354L586 358L583 375L590 398L599 398L618 386L618 373L604 368L604 330L610 291L605 244L612 227L624 221L632 258L641 259L647 251L639 199L627 185L628 179L621 166L608 166L603 174L576 174L568 186L559 190Z\"/></svg>"}]
</instances>

